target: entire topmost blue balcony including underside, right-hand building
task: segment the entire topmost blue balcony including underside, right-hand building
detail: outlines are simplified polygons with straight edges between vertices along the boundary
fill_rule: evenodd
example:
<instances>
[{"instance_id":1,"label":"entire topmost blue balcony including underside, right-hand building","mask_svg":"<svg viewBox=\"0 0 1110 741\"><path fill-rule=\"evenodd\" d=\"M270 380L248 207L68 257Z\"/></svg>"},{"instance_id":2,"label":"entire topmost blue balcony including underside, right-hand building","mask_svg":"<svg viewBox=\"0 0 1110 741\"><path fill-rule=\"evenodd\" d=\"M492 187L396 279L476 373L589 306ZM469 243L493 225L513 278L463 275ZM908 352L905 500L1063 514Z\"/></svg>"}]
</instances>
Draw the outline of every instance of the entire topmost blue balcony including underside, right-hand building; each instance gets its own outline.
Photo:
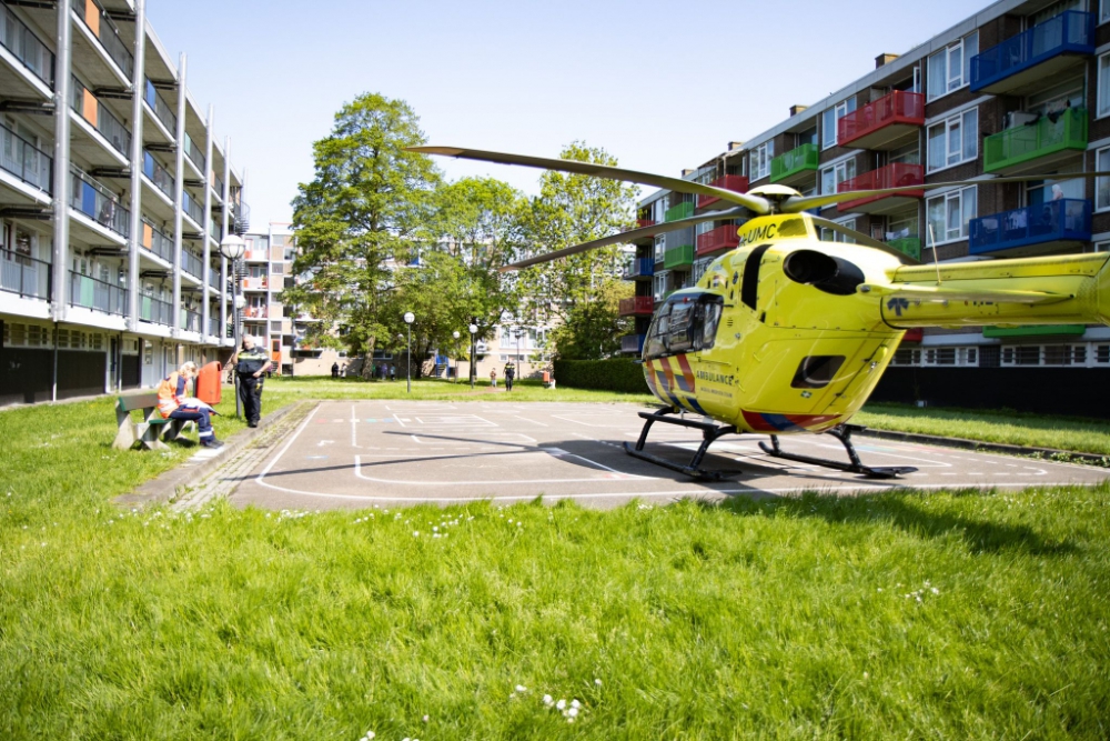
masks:
<instances>
[{"instance_id":1,"label":"entire topmost blue balcony including underside, right-hand building","mask_svg":"<svg viewBox=\"0 0 1110 741\"><path fill-rule=\"evenodd\" d=\"M1094 13L1068 10L971 58L971 91L1015 94L1094 53Z\"/></svg>"}]
</instances>

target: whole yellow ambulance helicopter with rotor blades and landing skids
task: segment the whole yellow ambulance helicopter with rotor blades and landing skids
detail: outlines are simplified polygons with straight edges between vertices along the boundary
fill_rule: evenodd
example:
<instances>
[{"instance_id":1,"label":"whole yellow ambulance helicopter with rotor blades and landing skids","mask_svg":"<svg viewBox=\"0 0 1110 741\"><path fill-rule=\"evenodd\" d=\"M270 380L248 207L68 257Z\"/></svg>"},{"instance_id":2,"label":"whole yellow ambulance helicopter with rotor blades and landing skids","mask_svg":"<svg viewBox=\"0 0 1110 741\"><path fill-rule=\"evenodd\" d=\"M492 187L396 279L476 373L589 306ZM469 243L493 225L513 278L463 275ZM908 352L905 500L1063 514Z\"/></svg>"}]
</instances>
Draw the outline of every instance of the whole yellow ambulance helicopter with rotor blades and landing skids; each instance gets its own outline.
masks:
<instances>
[{"instance_id":1,"label":"whole yellow ambulance helicopter with rotor blades and landing skids","mask_svg":"<svg viewBox=\"0 0 1110 741\"><path fill-rule=\"evenodd\" d=\"M865 465L851 443L851 432L860 428L847 423L882 377L906 330L1110 324L1110 253L920 264L889 244L806 212L859 198L981 184L978 181L809 197L781 186L738 193L573 160L448 147L414 147L411 151L624 180L735 204L549 252L505 270L706 221L748 219L738 229L738 247L715 259L696 286L675 291L656 307L644 341L644 375L664 408L640 413L646 420L644 429L636 444L625 443L625 449L695 477L719 478L698 467L709 445L729 433L768 434L771 444L759 444L769 455L869 478L911 472L916 469ZM1052 177L1058 176L987 182ZM820 229L841 233L855 243L821 241ZM670 417L682 411L720 424ZM702 444L688 464L644 452L655 422L702 431ZM778 437L794 433L831 434L844 444L850 462L784 451Z\"/></svg>"}]
</instances>

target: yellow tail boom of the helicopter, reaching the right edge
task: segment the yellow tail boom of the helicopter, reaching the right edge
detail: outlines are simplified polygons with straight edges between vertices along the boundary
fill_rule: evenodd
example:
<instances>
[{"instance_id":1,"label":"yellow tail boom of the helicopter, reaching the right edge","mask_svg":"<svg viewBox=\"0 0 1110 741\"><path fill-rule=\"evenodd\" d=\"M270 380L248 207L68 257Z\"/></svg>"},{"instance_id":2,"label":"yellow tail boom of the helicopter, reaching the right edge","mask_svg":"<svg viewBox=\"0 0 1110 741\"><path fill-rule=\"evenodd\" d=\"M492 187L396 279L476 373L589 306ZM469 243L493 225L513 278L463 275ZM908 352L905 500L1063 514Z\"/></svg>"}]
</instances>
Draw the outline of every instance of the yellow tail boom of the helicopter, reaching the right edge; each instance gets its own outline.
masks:
<instances>
[{"instance_id":1,"label":"yellow tail boom of the helicopter, reaching the right edge","mask_svg":"<svg viewBox=\"0 0 1110 741\"><path fill-rule=\"evenodd\" d=\"M1072 254L902 267L880 297L898 329L983 324L1110 326L1110 256Z\"/></svg>"}]
</instances>

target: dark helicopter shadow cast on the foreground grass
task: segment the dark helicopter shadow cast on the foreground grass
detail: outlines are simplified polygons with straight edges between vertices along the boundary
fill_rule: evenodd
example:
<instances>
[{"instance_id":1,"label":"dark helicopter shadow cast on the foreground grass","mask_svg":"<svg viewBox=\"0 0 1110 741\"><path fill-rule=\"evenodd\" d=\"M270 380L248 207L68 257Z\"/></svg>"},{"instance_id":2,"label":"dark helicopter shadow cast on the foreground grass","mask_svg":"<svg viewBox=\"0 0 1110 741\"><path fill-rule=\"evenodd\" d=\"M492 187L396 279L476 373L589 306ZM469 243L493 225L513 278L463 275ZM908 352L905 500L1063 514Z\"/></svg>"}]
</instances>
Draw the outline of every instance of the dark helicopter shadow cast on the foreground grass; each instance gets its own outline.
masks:
<instances>
[{"instance_id":1,"label":"dark helicopter shadow cast on the foreground grass","mask_svg":"<svg viewBox=\"0 0 1110 741\"><path fill-rule=\"evenodd\" d=\"M990 497L993 492L977 489L951 492L952 495ZM1067 541L1057 542L1043 538L1026 525L1003 524L989 520L978 520L951 512L929 512L917 507L922 495L912 491L892 491L877 494L830 497L807 492L800 498L729 499L723 502L699 501L705 509L722 509L739 517L768 511L783 512L787 517L819 518L831 524L885 524L898 528L922 539L947 538L958 534L976 554L1019 551L1031 555L1067 555L1078 552L1078 548Z\"/></svg>"}]
</instances>

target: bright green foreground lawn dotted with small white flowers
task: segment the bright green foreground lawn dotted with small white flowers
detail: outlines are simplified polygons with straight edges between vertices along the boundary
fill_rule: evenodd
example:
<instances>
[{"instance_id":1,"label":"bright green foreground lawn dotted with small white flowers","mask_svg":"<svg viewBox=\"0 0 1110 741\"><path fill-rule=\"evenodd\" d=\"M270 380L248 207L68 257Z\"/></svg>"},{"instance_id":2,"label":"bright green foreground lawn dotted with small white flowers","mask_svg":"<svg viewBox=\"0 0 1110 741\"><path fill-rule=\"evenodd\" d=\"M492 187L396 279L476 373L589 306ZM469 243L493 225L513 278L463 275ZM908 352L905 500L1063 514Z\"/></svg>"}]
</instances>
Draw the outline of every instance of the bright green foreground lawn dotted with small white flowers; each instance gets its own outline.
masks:
<instances>
[{"instance_id":1,"label":"bright green foreground lawn dotted with small white flowers","mask_svg":"<svg viewBox=\"0 0 1110 741\"><path fill-rule=\"evenodd\" d=\"M1107 485L178 514L113 437L0 413L0 738L1110 735Z\"/></svg>"}]
</instances>

